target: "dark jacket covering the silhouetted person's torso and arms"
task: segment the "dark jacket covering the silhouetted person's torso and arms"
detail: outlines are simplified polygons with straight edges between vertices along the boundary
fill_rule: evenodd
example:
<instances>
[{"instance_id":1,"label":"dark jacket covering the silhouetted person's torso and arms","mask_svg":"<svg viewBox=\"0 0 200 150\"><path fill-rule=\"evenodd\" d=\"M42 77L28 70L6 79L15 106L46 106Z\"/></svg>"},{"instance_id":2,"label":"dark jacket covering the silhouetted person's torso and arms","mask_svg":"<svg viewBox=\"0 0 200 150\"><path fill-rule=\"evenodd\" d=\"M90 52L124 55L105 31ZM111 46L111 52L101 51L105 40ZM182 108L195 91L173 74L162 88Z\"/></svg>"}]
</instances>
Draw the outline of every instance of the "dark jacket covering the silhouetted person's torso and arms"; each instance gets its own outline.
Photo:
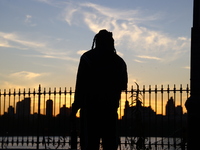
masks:
<instances>
[{"instance_id":1,"label":"dark jacket covering the silhouetted person's torso and arms","mask_svg":"<svg viewBox=\"0 0 200 150\"><path fill-rule=\"evenodd\" d=\"M72 113L117 112L122 90L127 89L127 68L116 53L89 50L81 56ZM101 113L102 114L102 113Z\"/></svg>"}]
</instances>

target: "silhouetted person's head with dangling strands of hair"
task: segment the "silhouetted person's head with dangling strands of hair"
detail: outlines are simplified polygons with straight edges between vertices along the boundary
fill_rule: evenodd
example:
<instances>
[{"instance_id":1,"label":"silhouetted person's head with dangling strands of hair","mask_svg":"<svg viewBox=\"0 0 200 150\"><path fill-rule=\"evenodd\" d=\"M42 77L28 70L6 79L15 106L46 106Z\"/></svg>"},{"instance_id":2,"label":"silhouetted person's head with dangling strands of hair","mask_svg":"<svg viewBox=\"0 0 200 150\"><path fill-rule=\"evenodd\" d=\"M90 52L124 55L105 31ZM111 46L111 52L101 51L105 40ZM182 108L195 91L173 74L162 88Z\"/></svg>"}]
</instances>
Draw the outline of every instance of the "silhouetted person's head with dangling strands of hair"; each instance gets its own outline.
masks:
<instances>
[{"instance_id":1,"label":"silhouetted person's head with dangling strands of hair","mask_svg":"<svg viewBox=\"0 0 200 150\"><path fill-rule=\"evenodd\" d=\"M112 37L112 32L108 32L105 29L100 30L99 33L95 35L92 49L94 49L94 44L95 44L95 48L102 49L102 51L106 50L108 52L111 52L111 51L115 52L114 39Z\"/></svg>"}]
</instances>

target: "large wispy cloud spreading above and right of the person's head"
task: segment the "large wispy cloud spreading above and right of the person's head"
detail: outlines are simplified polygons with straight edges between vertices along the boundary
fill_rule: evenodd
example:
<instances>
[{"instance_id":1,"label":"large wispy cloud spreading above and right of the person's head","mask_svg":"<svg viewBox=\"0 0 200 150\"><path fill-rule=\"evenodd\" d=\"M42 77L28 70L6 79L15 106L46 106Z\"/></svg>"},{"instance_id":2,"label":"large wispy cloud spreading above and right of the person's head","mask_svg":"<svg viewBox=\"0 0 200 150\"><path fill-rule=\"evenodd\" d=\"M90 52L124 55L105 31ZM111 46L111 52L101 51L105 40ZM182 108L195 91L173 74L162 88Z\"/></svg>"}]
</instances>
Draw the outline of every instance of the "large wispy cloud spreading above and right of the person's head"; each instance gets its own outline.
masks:
<instances>
[{"instance_id":1,"label":"large wispy cloud spreading above and right of the person's head","mask_svg":"<svg viewBox=\"0 0 200 150\"><path fill-rule=\"evenodd\" d=\"M190 46L187 37L173 37L148 28L148 24L161 18L159 13L147 15L141 9L123 10L94 3L71 2L63 16L68 24L85 24L94 33L103 28L111 30L117 48L126 48L138 55L153 54L154 59L162 59L163 62L180 58Z\"/></svg>"}]
</instances>

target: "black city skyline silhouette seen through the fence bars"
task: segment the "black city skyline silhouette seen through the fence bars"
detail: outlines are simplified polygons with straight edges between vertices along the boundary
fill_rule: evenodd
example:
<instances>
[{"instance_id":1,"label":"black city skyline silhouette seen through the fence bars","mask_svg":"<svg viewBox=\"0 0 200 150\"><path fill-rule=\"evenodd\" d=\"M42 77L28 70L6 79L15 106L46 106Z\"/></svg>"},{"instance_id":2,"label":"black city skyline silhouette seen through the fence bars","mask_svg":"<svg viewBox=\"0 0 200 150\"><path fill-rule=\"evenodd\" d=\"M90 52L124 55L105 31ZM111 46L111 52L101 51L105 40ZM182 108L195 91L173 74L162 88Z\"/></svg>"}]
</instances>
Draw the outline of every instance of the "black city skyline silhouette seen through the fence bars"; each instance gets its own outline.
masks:
<instances>
[{"instance_id":1,"label":"black city skyline silhouette seen through the fence bars","mask_svg":"<svg viewBox=\"0 0 200 150\"><path fill-rule=\"evenodd\" d=\"M171 97L163 106L166 107L166 114L156 114L151 106L142 106L142 102L132 105L129 101L125 102L124 116L119 119L120 135L129 136L169 136L175 131L180 131L186 124L186 114L183 114L182 106L175 105ZM35 135L39 126L41 134L62 135L70 134L70 111L71 108L62 105L59 114L54 114L53 100L46 101L46 114L30 113L31 98L18 101L15 107L9 106L7 112L0 116L0 127L10 128L10 135ZM60 105L59 105L60 106ZM77 122L80 118L77 118ZM78 130L80 128L78 127ZM6 131L6 130L5 130ZM142 132L141 132L142 131ZM176 133L176 136L181 136Z\"/></svg>"}]
</instances>

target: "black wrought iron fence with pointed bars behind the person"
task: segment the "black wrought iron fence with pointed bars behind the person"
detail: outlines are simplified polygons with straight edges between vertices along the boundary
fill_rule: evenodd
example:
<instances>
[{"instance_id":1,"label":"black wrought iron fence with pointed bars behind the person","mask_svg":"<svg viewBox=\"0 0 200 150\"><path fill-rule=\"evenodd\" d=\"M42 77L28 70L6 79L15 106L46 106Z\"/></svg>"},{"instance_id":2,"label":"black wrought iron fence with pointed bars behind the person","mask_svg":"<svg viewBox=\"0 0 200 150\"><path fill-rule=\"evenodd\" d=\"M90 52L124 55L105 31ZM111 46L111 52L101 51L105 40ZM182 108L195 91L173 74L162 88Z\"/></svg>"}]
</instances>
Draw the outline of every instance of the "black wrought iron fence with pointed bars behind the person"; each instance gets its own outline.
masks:
<instances>
[{"instance_id":1,"label":"black wrought iron fence with pointed bars behind the person","mask_svg":"<svg viewBox=\"0 0 200 150\"><path fill-rule=\"evenodd\" d=\"M122 92L118 149L186 149L189 92L188 85L132 86ZM73 100L72 88L0 90L1 148L70 149Z\"/></svg>"}]
</instances>

